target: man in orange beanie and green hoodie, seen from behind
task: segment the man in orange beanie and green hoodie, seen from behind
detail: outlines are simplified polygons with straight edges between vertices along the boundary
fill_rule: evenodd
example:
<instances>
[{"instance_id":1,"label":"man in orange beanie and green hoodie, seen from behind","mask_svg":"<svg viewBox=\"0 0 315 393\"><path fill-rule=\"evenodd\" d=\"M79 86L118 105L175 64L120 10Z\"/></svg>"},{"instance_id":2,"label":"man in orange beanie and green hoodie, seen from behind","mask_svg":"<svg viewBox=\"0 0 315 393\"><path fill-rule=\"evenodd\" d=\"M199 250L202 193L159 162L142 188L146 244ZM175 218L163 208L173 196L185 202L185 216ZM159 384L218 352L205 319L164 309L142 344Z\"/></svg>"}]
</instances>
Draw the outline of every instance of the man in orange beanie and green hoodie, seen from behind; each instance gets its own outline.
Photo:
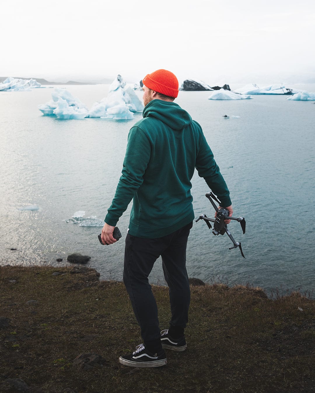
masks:
<instances>
[{"instance_id":1,"label":"man in orange beanie and green hoodie, seen from behind","mask_svg":"<svg viewBox=\"0 0 315 393\"><path fill-rule=\"evenodd\" d=\"M165 365L164 349L180 352L187 347L184 329L190 288L185 265L187 238L195 217L190 193L195 167L229 216L233 213L228 187L202 129L173 102L177 96L178 80L172 72L157 70L143 79L143 119L130 129L122 176L102 230L102 241L113 244L115 225L133 199L123 279L144 344L120 356L119 362L131 367ZM148 283L160 255L172 314L169 329L161 333Z\"/></svg>"}]
</instances>

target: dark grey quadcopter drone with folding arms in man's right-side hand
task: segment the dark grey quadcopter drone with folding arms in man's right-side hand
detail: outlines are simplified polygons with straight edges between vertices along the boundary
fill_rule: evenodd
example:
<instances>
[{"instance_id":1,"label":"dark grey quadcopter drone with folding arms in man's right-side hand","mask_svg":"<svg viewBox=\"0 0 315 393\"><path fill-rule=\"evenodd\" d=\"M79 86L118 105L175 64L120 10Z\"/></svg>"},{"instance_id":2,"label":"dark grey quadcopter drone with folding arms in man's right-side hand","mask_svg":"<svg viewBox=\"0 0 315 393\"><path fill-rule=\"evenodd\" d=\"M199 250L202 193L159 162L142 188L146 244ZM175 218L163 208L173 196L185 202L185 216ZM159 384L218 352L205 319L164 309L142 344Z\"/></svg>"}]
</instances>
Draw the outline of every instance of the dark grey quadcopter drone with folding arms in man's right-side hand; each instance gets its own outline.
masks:
<instances>
[{"instance_id":1,"label":"dark grey quadcopter drone with folding arms in man's right-side hand","mask_svg":"<svg viewBox=\"0 0 315 393\"><path fill-rule=\"evenodd\" d=\"M228 209L225 209L225 208L218 209L217 205L214 203L214 200L219 203L219 206L222 206L222 204L219 200L217 200L216 196L212 192L206 193L206 197L209 199L212 206L215 208L217 215L216 215L215 219L209 219L209 217L207 217L205 214L202 214L201 216L199 216L199 218L196 220L196 222L198 222L199 220L206 221L206 224L208 225L209 229L212 229L212 226L209 221L213 222L213 230L212 230L213 235L224 235L224 233L227 233L228 237L232 240L232 242L234 244L234 246L229 248L229 250L239 247L242 257L245 258L244 253L242 251L241 243L236 242L233 239L231 232L228 230L228 225L224 223L224 220L238 221L241 224L241 227L243 230L243 235L244 235L245 226L246 226L245 218L244 217L238 217L238 218L229 217Z\"/></svg>"}]
</instances>

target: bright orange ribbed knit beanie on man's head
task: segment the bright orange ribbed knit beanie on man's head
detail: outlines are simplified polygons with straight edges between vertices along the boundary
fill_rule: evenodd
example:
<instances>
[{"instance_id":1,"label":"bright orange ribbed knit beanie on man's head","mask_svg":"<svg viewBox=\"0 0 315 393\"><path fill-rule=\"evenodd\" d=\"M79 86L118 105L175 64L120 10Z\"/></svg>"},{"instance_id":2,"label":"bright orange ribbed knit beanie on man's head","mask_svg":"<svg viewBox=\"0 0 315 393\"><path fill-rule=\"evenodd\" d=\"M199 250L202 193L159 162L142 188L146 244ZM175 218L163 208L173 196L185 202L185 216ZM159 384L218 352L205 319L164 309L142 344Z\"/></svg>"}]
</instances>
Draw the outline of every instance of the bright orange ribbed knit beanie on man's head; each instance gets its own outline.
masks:
<instances>
[{"instance_id":1,"label":"bright orange ribbed knit beanie on man's head","mask_svg":"<svg viewBox=\"0 0 315 393\"><path fill-rule=\"evenodd\" d=\"M176 98L178 96L178 80L167 70L154 71L142 79L143 84L158 93Z\"/></svg>"}]
</instances>

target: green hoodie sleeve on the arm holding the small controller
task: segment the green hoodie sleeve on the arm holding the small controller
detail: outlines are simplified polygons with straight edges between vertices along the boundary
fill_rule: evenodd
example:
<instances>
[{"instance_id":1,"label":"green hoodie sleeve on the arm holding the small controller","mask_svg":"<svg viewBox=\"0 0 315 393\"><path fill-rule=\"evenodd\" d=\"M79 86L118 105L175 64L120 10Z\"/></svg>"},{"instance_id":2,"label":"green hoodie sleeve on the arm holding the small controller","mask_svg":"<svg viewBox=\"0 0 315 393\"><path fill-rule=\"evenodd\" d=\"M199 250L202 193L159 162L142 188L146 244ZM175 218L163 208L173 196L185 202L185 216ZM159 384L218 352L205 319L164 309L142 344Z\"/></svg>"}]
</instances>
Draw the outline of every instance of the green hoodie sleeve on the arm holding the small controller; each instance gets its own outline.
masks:
<instances>
[{"instance_id":1,"label":"green hoodie sleeve on the arm holding the small controller","mask_svg":"<svg viewBox=\"0 0 315 393\"><path fill-rule=\"evenodd\" d=\"M151 145L145 132L137 126L132 127L128 134L122 175L104 220L107 224L115 226L119 217L127 209L135 192L143 183L143 174L148 166L150 155Z\"/></svg>"}]
</instances>

